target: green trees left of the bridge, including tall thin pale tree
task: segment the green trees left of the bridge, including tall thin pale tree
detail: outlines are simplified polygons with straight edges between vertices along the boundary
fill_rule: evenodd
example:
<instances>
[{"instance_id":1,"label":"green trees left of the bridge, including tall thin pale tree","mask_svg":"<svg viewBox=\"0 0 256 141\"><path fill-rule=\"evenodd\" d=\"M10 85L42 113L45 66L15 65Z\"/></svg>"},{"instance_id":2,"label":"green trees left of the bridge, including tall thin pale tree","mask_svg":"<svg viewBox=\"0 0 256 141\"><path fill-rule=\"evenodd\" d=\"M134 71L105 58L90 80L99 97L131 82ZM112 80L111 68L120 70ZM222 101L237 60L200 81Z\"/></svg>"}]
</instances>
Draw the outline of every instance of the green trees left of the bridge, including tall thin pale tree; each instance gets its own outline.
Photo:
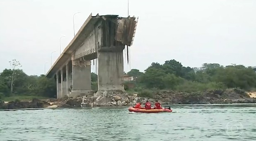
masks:
<instances>
[{"instance_id":1,"label":"green trees left of the bridge, including tall thin pale tree","mask_svg":"<svg viewBox=\"0 0 256 141\"><path fill-rule=\"evenodd\" d=\"M22 69L15 69L21 65L14 60L13 69L4 69L0 73L0 98L36 96L56 96L56 81L44 75L28 76ZM12 100L15 100L12 98ZM17 99L17 98L16 98Z\"/></svg>"}]
</instances>

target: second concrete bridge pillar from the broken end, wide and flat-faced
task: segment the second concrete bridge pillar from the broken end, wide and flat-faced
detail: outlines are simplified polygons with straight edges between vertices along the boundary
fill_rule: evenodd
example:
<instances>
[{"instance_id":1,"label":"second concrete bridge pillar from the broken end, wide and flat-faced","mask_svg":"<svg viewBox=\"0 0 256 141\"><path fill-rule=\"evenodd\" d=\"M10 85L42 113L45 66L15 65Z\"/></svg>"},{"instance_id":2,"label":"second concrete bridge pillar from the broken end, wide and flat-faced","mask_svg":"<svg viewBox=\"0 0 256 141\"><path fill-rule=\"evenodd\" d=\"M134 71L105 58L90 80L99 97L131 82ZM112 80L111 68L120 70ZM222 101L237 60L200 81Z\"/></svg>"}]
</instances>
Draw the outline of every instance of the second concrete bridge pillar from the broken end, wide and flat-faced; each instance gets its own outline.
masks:
<instances>
[{"instance_id":1,"label":"second concrete bridge pillar from the broken end, wide and flat-faced","mask_svg":"<svg viewBox=\"0 0 256 141\"><path fill-rule=\"evenodd\" d=\"M72 60L72 84L71 96L91 91L91 60Z\"/></svg>"}]
</instances>

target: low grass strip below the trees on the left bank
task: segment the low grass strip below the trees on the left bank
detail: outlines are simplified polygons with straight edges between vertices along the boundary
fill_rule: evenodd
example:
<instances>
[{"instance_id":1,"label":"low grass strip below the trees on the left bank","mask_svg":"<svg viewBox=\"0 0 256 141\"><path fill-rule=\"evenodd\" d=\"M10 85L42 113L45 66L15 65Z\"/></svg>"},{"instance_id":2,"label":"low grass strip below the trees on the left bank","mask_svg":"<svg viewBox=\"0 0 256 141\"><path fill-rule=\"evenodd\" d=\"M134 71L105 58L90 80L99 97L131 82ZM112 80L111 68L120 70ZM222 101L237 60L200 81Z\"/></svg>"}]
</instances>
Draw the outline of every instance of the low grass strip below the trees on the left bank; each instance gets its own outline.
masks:
<instances>
[{"instance_id":1,"label":"low grass strip below the trees on the left bank","mask_svg":"<svg viewBox=\"0 0 256 141\"><path fill-rule=\"evenodd\" d=\"M36 99L47 99L48 97L43 97L43 96L10 96L10 97L4 97L1 100L2 101L15 101L15 100L20 100L20 101L25 101L25 100L32 100L33 98Z\"/></svg>"}]
</instances>

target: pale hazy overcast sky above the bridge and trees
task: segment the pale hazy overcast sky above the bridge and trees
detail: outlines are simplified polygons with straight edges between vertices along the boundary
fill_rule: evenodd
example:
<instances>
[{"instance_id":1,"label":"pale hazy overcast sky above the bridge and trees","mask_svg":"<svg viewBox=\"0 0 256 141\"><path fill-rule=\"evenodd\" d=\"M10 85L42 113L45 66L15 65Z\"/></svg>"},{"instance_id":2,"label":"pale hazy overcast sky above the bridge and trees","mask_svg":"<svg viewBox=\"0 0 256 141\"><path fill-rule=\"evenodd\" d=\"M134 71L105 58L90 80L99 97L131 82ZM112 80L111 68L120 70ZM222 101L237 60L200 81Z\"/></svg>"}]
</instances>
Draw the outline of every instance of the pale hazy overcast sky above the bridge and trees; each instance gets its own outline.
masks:
<instances>
[{"instance_id":1,"label":"pale hazy overcast sky above the bridge and trees","mask_svg":"<svg viewBox=\"0 0 256 141\"><path fill-rule=\"evenodd\" d=\"M74 37L73 14L77 33L90 13L127 17L128 0L0 0L0 71L16 59L26 74L44 74ZM172 59L256 66L255 13L256 0L129 0L139 19L124 70Z\"/></svg>"}]
</instances>

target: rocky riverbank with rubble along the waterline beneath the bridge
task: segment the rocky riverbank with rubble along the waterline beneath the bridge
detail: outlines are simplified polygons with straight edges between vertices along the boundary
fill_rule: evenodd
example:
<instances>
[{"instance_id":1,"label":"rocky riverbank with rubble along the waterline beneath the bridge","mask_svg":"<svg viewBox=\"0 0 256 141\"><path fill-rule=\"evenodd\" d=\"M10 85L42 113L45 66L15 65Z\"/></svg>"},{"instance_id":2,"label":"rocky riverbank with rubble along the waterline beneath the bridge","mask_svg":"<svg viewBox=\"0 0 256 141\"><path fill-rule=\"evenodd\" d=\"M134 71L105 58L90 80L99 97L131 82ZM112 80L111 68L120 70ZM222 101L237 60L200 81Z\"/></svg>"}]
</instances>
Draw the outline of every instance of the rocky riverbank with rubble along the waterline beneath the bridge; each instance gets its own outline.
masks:
<instances>
[{"instance_id":1,"label":"rocky riverbank with rubble along the waterline beneath the bridge","mask_svg":"<svg viewBox=\"0 0 256 141\"><path fill-rule=\"evenodd\" d=\"M144 104L150 100L152 104L158 100L162 105L172 104L228 104L228 103L256 103L256 98L250 98L249 94L240 89L215 90L204 93L185 93L174 91L155 91L152 98L140 97L138 93L126 93L125 91L98 91L84 96L65 97L61 99L37 100L31 102L12 101L4 103L0 101L0 109L19 108L46 108L65 107L74 108L82 106L122 106L135 105L137 102Z\"/></svg>"}]
</instances>

